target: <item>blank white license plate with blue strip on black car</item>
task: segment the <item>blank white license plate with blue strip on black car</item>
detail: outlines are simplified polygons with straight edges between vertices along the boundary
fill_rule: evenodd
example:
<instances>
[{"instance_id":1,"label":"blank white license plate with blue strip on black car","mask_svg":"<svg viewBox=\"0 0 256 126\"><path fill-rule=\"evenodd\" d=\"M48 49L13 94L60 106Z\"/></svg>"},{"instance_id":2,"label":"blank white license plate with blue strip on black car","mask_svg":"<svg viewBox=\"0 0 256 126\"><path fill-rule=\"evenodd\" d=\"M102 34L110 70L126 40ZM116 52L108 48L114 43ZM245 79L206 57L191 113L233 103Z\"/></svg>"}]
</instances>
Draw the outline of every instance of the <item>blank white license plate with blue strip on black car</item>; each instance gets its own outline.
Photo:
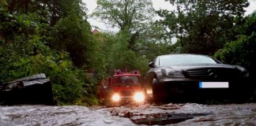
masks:
<instances>
[{"instance_id":1,"label":"blank white license plate with blue strip on black car","mask_svg":"<svg viewBox=\"0 0 256 126\"><path fill-rule=\"evenodd\" d=\"M199 82L199 88L228 88L228 82Z\"/></svg>"}]
</instances>

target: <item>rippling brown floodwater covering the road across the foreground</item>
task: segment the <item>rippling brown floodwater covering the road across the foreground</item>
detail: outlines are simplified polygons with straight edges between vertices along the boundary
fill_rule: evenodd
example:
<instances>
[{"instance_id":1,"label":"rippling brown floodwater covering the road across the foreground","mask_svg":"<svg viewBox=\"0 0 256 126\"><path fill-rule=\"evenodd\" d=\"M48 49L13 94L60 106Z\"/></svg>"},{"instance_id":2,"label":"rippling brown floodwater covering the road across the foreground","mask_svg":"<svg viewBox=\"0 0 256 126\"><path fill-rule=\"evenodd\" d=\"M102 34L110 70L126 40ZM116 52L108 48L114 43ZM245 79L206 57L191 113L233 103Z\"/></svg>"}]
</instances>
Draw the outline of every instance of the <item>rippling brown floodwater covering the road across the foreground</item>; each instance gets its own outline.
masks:
<instances>
[{"instance_id":1,"label":"rippling brown floodwater covering the road across the foreground","mask_svg":"<svg viewBox=\"0 0 256 126\"><path fill-rule=\"evenodd\" d=\"M147 104L112 108L103 106L0 106L0 125L139 125L134 120L149 119L149 115L155 117L166 115L166 118L175 120L177 117L184 118L184 120L169 121L166 125L254 126L256 125L256 103L228 105L170 103L161 106ZM142 125L151 124L154 125L149 122L142 123Z\"/></svg>"}]
</instances>

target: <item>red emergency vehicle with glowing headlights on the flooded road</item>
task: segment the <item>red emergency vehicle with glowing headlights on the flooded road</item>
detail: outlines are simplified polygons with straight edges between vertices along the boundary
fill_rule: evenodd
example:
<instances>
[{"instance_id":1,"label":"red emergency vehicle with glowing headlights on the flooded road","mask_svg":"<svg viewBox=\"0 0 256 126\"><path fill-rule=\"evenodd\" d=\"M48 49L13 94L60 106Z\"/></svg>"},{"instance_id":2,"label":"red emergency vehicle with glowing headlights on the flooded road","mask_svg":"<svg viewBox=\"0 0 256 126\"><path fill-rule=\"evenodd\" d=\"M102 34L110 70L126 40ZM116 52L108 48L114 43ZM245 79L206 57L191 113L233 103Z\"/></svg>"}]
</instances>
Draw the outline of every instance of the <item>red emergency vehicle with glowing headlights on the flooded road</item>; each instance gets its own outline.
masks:
<instances>
[{"instance_id":1,"label":"red emergency vehicle with glowing headlights on the flooded road","mask_svg":"<svg viewBox=\"0 0 256 126\"><path fill-rule=\"evenodd\" d=\"M146 98L141 80L138 70L115 70L114 76L108 77L100 88L100 98L107 106L144 103Z\"/></svg>"}]
</instances>

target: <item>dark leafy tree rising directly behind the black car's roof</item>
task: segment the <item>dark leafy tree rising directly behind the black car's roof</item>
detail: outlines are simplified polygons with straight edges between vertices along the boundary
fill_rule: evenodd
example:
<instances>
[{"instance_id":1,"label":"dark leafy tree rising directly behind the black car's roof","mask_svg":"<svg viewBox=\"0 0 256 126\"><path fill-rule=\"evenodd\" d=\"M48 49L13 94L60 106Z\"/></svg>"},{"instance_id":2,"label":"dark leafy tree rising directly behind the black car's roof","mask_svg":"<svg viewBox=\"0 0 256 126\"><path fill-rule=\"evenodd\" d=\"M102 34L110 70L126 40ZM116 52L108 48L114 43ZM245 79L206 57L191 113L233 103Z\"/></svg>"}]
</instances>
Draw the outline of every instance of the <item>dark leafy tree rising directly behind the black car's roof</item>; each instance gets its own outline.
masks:
<instances>
[{"instance_id":1,"label":"dark leafy tree rising directly behind the black car's roof","mask_svg":"<svg viewBox=\"0 0 256 126\"><path fill-rule=\"evenodd\" d=\"M176 37L184 53L214 54L235 39L235 21L243 17L249 3L235 1L169 0L175 10L160 10L166 36Z\"/></svg>"}]
</instances>

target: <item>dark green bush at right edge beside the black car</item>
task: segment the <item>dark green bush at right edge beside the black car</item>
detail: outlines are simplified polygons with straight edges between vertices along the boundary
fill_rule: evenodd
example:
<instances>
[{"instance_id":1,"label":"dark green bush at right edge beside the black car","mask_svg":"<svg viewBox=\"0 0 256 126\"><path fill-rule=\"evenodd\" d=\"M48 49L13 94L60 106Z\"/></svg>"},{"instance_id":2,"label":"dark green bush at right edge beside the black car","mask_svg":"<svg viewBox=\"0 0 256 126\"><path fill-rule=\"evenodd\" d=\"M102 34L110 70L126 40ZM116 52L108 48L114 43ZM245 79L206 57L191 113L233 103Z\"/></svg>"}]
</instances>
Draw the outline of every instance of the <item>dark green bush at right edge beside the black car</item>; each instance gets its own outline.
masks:
<instances>
[{"instance_id":1,"label":"dark green bush at right edge beside the black car","mask_svg":"<svg viewBox=\"0 0 256 126\"><path fill-rule=\"evenodd\" d=\"M244 66L250 72L251 78L256 76L256 62L254 60L256 57L255 19L256 13L245 17L245 23L238 26L241 33L238 39L232 43L227 43L223 49L218 50L214 55L221 61Z\"/></svg>"}]
</instances>

